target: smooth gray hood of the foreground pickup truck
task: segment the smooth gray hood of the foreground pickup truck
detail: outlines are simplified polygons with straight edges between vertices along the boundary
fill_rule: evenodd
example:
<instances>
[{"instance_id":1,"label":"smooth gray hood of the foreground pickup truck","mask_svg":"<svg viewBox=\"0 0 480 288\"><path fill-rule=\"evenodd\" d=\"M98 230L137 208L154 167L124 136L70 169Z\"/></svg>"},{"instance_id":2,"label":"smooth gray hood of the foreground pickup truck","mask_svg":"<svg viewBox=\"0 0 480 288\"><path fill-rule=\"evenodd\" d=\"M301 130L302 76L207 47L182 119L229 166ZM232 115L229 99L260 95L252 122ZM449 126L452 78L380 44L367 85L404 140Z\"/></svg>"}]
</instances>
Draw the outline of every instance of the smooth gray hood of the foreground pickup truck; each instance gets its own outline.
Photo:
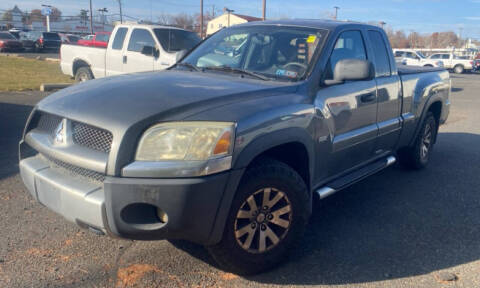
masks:
<instances>
[{"instance_id":1,"label":"smooth gray hood of the foreground pickup truck","mask_svg":"<svg viewBox=\"0 0 480 288\"><path fill-rule=\"evenodd\" d=\"M168 70L92 80L50 95L37 108L106 129L171 121L251 97L292 93L297 85L210 72ZM122 126L122 127L119 127Z\"/></svg>"}]
</instances>

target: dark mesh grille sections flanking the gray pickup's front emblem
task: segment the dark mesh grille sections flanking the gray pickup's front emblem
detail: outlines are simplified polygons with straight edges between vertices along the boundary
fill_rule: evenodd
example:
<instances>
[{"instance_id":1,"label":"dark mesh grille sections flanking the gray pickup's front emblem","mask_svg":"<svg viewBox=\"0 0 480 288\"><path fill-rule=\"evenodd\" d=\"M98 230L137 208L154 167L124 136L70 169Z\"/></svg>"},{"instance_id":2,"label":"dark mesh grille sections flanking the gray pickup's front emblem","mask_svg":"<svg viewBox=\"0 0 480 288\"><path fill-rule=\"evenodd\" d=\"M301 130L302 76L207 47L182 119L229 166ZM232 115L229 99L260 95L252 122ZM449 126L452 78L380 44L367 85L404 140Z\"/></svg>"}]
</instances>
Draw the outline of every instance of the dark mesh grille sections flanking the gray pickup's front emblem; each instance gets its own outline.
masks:
<instances>
[{"instance_id":1,"label":"dark mesh grille sections flanking the gray pickup's front emblem","mask_svg":"<svg viewBox=\"0 0 480 288\"><path fill-rule=\"evenodd\" d=\"M39 129L48 133L52 137L55 137L55 130L62 121L62 117L44 112L38 112L38 114L39 115L36 115L36 126L35 123L33 123L32 128ZM72 137L75 144L93 150L110 153L113 141L112 133L77 121L71 121L71 123L73 130Z\"/></svg>"}]
</instances>

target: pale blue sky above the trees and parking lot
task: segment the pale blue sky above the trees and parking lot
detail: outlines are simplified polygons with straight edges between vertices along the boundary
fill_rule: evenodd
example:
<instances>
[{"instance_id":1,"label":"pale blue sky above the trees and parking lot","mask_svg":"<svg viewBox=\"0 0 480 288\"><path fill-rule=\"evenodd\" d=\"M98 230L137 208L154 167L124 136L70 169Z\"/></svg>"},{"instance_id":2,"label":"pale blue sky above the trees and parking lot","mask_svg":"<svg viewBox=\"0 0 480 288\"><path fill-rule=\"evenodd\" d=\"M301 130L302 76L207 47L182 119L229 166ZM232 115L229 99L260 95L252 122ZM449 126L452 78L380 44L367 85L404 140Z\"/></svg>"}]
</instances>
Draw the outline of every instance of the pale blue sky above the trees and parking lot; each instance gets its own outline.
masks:
<instances>
[{"instance_id":1,"label":"pale blue sky above the trees and parking lot","mask_svg":"<svg viewBox=\"0 0 480 288\"><path fill-rule=\"evenodd\" d=\"M117 0L92 0L93 10L106 7L109 14L118 14ZM204 9L223 7L234 13L261 17L262 0L204 0ZM154 21L162 13L198 13L200 0L122 0L123 13ZM63 15L78 15L89 9L89 0L1 0L0 9L18 5L22 10L48 4L59 8ZM395 30L407 34L454 31L462 37L480 40L480 0L267 0L267 18L327 18L340 7L338 18L361 22L384 21Z\"/></svg>"}]
</instances>

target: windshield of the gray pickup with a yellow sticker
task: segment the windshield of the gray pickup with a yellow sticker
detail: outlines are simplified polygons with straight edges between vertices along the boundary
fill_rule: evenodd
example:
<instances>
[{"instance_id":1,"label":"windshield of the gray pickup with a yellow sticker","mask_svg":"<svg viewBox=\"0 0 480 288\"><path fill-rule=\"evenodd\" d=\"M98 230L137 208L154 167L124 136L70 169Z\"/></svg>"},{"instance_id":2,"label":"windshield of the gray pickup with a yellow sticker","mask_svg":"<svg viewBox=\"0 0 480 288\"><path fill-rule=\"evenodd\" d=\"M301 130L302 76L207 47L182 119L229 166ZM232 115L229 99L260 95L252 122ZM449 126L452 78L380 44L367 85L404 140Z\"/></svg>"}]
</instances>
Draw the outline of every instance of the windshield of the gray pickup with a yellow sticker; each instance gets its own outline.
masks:
<instances>
[{"instance_id":1,"label":"windshield of the gray pickup with a yellow sticker","mask_svg":"<svg viewBox=\"0 0 480 288\"><path fill-rule=\"evenodd\" d=\"M182 61L203 70L246 71L268 78L306 76L321 50L326 30L258 25L224 29Z\"/></svg>"}]
</instances>

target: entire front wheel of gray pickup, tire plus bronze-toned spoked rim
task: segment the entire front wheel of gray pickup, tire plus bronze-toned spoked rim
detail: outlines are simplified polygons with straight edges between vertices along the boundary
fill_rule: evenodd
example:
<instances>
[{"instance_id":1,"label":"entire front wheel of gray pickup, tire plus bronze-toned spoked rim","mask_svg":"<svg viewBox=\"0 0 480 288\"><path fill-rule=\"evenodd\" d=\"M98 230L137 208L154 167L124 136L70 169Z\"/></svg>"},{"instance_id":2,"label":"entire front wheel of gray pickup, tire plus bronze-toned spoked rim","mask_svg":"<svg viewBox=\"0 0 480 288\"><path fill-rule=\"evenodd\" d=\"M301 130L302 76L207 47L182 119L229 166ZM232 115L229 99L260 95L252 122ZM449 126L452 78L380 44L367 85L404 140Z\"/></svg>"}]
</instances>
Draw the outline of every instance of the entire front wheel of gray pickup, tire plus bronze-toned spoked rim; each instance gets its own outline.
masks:
<instances>
[{"instance_id":1,"label":"entire front wheel of gray pickup, tire plus bronze-toned spoked rim","mask_svg":"<svg viewBox=\"0 0 480 288\"><path fill-rule=\"evenodd\" d=\"M283 260L308 221L307 188L288 165L265 159L247 170L233 200L223 238L207 247L225 270L255 274Z\"/></svg>"}]
</instances>

